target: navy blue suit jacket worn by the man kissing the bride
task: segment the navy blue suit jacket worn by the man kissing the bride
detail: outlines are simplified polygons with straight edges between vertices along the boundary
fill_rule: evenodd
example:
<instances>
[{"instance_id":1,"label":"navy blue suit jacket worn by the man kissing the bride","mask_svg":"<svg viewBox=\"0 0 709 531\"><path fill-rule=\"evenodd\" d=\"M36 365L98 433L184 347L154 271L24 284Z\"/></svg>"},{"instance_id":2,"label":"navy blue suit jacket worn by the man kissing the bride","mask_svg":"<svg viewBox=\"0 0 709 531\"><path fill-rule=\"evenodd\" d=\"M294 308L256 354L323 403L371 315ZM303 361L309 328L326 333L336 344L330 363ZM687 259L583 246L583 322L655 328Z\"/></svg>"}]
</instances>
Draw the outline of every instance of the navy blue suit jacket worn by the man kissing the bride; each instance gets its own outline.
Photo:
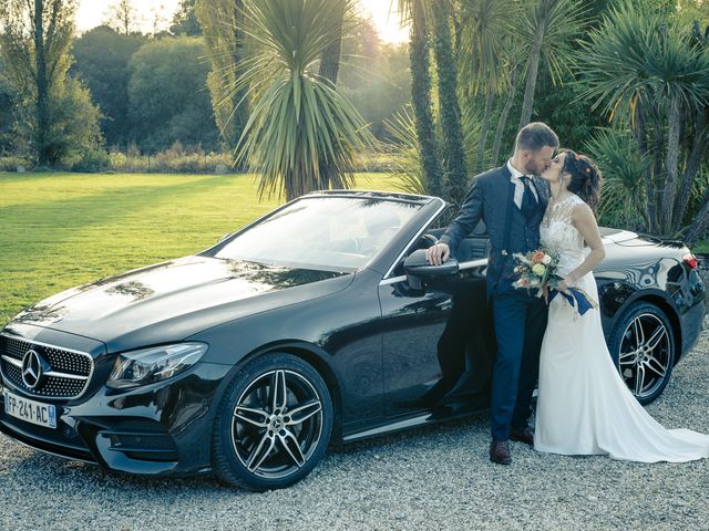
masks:
<instances>
[{"instance_id":1,"label":"navy blue suit jacket worn by the man kissing the bride","mask_svg":"<svg viewBox=\"0 0 709 531\"><path fill-rule=\"evenodd\" d=\"M528 252L540 247L540 223L548 204L548 183L534 177L532 183L540 198L537 211L526 219L514 204L515 185L507 165L480 174L473 179L458 218L441 237L454 253L460 241L482 219L490 238L487 294L495 290L512 290L515 280L514 252ZM506 236L505 236L506 235Z\"/></svg>"}]
</instances>

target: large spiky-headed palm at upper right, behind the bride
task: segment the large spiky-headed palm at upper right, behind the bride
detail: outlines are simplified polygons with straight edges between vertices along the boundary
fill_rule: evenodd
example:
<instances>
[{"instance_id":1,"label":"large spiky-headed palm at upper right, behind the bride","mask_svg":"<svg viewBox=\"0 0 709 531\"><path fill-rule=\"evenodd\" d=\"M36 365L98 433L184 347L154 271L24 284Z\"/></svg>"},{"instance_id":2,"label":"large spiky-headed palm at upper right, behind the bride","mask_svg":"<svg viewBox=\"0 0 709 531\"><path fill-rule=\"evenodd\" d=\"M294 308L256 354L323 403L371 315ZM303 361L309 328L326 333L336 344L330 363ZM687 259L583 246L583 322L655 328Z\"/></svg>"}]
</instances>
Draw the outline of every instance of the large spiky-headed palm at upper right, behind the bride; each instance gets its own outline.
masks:
<instances>
[{"instance_id":1,"label":"large spiky-headed palm at upper right, behind the bride","mask_svg":"<svg viewBox=\"0 0 709 531\"><path fill-rule=\"evenodd\" d=\"M579 66L593 108L602 108L618 127L629 127L641 155L653 159L641 199L647 201L646 230L677 235L709 147L707 50L688 31L625 1L609 10L583 51ZM695 219L692 227L701 222Z\"/></svg>"}]
</instances>

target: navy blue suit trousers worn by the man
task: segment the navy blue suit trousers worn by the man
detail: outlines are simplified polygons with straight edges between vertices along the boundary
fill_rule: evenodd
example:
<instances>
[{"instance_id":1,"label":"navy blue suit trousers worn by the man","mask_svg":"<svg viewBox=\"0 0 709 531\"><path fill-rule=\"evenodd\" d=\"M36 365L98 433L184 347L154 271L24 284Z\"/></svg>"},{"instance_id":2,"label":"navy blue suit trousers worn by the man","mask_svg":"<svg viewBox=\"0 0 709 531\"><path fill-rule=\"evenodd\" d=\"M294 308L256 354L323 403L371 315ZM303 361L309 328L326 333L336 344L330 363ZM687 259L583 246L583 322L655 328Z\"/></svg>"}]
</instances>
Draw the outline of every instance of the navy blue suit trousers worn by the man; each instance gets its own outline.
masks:
<instances>
[{"instance_id":1,"label":"navy blue suit trousers worn by the man","mask_svg":"<svg viewBox=\"0 0 709 531\"><path fill-rule=\"evenodd\" d=\"M527 426L548 312L544 299L511 287L493 292L492 309L497 355L490 426L494 440L508 440L511 426Z\"/></svg>"}]
</instances>

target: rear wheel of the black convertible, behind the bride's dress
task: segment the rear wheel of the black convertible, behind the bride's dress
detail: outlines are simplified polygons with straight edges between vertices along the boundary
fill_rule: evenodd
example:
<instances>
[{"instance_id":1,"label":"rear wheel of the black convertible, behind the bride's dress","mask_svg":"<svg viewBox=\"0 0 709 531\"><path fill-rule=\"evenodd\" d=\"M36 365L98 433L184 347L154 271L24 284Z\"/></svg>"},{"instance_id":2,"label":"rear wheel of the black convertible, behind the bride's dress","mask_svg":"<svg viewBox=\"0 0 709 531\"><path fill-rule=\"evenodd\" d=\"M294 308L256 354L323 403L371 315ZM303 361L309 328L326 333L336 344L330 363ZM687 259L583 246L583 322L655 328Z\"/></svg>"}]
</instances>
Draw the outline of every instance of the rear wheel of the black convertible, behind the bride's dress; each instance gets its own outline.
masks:
<instances>
[{"instance_id":1,"label":"rear wheel of the black convertible, behind the bride's dress","mask_svg":"<svg viewBox=\"0 0 709 531\"><path fill-rule=\"evenodd\" d=\"M649 302L631 304L616 320L608 350L640 404L662 394L675 365L675 336L665 312Z\"/></svg>"}]
</instances>

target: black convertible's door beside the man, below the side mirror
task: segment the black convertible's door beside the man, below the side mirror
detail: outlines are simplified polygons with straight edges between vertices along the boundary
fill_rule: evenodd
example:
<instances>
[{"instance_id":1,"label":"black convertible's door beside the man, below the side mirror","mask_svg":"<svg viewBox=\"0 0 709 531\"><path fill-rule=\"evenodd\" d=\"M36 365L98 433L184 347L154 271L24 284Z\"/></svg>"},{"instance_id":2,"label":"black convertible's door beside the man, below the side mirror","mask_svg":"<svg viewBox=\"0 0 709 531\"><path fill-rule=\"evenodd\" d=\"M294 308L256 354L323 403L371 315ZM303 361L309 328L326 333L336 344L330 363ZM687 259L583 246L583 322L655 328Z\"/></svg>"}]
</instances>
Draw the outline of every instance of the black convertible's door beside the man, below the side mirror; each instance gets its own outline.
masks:
<instances>
[{"instance_id":1,"label":"black convertible's door beside the man, below the side mirror","mask_svg":"<svg viewBox=\"0 0 709 531\"><path fill-rule=\"evenodd\" d=\"M387 416L485 407L491 361L485 298L486 239L459 247L460 271L413 289L403 261L435 238L411 244L379 284ZM455 407L452 407L455 406ZM445 415L445 414L444 414Z\"/></svg>"}]
</instances>

